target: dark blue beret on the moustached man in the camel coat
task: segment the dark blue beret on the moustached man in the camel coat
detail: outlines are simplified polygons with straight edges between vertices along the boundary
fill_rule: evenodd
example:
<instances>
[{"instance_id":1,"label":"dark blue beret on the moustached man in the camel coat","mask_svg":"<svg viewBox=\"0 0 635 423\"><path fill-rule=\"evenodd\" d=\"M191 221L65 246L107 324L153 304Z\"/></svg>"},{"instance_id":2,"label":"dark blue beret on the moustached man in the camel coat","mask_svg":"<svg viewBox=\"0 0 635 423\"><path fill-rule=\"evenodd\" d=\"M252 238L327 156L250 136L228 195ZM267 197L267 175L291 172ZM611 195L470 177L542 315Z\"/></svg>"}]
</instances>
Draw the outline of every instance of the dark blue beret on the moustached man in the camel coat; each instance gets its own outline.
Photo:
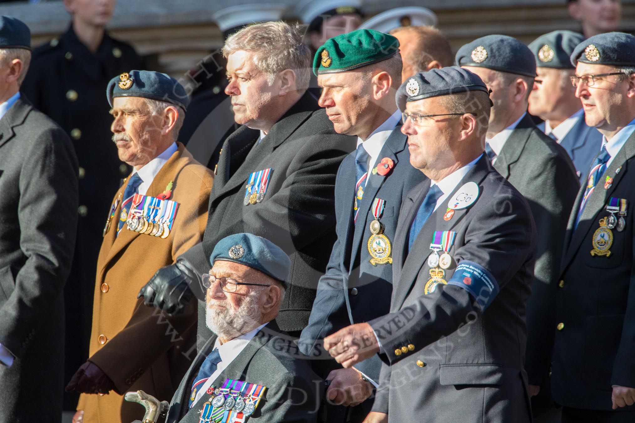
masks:
<instances>
[{"instance_id":1,"label":"dark blue beret on the moustached man in the camel coat","mask_svg":"<svg viewBox=\"0 0 635 423\"><path fill-rule=\"evenodd\" d=\"M108 103L114 97L145 97L166 101L187 110L190 99L185 88L170 75L151 70L131 70L110 79L106 88Z\"/></svg>"}]
</instances>

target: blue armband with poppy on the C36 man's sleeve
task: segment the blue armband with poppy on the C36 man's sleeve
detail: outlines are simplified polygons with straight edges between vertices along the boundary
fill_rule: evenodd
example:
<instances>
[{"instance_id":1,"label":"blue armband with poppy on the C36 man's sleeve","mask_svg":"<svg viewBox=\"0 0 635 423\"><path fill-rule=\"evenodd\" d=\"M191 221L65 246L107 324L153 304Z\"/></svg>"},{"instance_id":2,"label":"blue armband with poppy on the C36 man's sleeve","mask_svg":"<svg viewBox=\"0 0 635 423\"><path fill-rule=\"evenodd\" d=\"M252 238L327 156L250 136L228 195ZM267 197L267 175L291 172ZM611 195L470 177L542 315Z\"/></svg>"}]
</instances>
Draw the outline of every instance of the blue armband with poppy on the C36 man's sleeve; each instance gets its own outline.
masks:
<instances>
[{"instance_id":1,"label":"blue armband with poppy on the C36 man's sleeve","mask_svg":"<svg viewBox=\"0 0 635 423\"><path fill-rule=\"evenodd\" d=\"M485 311L498 295L498 282L490 271L473 261L463 260L448 280L448 285L461 287L476 299Z\"/></svg>"}]
</instances>

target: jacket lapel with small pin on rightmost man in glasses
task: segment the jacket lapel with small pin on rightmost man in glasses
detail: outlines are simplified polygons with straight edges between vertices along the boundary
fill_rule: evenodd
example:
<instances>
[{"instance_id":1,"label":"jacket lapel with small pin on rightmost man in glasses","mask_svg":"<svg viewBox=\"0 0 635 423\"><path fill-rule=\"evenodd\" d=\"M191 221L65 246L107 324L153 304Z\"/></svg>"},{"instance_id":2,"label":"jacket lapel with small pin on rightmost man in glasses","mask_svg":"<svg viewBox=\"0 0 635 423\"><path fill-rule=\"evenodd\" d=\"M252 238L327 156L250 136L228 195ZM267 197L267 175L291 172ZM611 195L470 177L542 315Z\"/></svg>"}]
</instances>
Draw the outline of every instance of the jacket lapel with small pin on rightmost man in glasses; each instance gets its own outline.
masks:
<instances>
[{"instance_id":1,"label":"jacket lapel with small pin on rightmost man in glasses","mask_svg":"<svg viewBox=\"0 0 635 423\"><path fill-rule=\"evenodd\" d=\"M620 149L620 151L615 155L615 159L611 162L611 166L606 169L604 174L598 181L598 185L596 185L595 189L591 193L591 196L587 200L587 204L584 206L584 211L582 211L582 216L580 216L580 221L578 223L578 227L575 228L571 236L571 243L565 254L565 261L563 262L565 265L568 264L575 256L580 244L585 239L589 230L598 222L598 214L601 212L608 198L611 197L613 191L620 183L622 176L626 173L626 161L631 159L635 155L635 133L632 133L629 139L626 141L624 146ZM616 173L617 168L620 167L620 171ZM613 183L608 190L605 190L604 184L606 181L606 177L610 176L613 178ZM584 193L584 187L580 189L582 193ZM575 202L576 208L572 210L572 216L570 218L570 225L573 228L575 225L575 216L577 215L578 210L580 209L581 197L580 193L578 193L578 198ZM572 224L573 221L573 224Z\"/></svg>"}]
</instances>

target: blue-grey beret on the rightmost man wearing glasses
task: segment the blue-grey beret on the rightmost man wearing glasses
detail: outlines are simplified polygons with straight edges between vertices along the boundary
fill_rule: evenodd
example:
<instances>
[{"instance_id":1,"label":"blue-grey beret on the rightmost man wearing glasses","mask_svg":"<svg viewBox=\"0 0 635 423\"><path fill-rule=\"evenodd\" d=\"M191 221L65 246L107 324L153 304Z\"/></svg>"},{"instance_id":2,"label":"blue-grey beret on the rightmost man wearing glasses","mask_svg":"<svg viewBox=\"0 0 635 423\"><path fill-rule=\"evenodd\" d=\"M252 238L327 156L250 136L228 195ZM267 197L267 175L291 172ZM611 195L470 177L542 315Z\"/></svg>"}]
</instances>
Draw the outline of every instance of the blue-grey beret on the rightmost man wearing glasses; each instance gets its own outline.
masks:
<instances>
[{"instance_id":1,"label":"blue-grey beret on the rightmost man wearing glasses","mask_svg":"<svg viewBox=\"0 0 635 423\"><path fill-rule=\"evenodd\" d=\"M571 63L635 66L635 37L624 32L605 32L580 42L571 54Z\"/></svg>"}]
</instances>

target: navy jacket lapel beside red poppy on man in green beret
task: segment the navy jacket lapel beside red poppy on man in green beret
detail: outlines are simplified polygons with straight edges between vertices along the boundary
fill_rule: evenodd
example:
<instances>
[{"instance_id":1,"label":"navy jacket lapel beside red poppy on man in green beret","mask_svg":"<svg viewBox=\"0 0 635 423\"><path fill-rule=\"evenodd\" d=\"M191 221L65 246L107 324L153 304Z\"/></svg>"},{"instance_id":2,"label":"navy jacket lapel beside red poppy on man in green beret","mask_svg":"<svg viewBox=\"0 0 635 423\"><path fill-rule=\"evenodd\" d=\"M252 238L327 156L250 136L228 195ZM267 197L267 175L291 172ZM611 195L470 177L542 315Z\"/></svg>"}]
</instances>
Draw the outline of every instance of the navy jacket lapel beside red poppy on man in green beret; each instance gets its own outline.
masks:
<instances>
[{"instance_id":1,"label":"navy jacket lapel beside red poppy on man in green beret","mask_svg":"<svg viewBox=\"0 0 635 423\"><path fill-rule=\"evenodd\" d=\"M406 144L406 136L401 133L401 125L395 127L392 130L392 133L387 138L382 150L379 152L379 156L377 157L377 164L384 159L384 157L388 157L392 159L394 162L394 167L398 164L397 154L403 151L404 145ZM402 166L410 166L410 163L402 164ZM351 254L351 266L349 269L353 268L353 264L358 257L359 253L359 244L362 241L362 236L364 235L364 230L366 229L366 215L373 205L373 200L375 196L377 196L377 192L384 185L384 181L388 178L389 175L380 175L374 174L371 171L372 169L368 169L368 184L366 184L366 188L364 189L364 198L361 202L361 207L359 208L359 217L358 224L355 225L353 242L352 242L352 254ZM351 191L351 197L354 195L354 190Z\"/></svg>"}]
</instances>

